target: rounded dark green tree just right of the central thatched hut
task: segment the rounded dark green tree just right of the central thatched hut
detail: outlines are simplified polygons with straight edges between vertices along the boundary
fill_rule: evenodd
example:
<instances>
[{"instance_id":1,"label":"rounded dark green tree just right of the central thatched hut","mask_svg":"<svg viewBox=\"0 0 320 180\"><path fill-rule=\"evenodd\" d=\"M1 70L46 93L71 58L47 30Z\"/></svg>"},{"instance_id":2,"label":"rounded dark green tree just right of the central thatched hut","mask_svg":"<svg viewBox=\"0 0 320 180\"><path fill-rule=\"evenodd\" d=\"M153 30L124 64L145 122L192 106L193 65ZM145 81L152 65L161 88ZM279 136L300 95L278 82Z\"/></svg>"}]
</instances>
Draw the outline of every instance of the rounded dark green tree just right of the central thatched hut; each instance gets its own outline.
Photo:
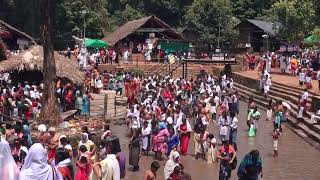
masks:
<instances>
[{"instance_id":1,"label":"rounded dark green tree just right of the central thatched hut","mask_svg":"<svg viewBox=\"0 0 320 180\"><path fill-rule=\"evenodd\" d=\"M233 30L232 8L229 0L197 0L188 9L186 25L194 28L200 40L217 47L219 26L220 44L231 42L237 35Z\"/></svg>"}]
</instances>

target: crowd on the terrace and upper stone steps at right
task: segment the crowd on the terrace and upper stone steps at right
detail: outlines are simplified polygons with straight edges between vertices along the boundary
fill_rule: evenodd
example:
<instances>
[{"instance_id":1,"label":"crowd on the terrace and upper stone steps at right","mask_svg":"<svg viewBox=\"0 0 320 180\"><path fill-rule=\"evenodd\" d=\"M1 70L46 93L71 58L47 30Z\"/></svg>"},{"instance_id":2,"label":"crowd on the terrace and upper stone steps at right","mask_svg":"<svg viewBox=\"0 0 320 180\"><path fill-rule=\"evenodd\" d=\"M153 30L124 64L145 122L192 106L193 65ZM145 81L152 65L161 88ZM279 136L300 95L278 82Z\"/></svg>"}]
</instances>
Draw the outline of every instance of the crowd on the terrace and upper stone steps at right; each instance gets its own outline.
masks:
<instances>
[{"instance_id":1,"label":"crowd on the terrace and upper stone steps at right","mask_svg":"<svg viewBox=\"0 0 320 180\"><path fill-rule=\"evenodd\" d=\"M280 68L280 72L290 76L298 76L297 85L304 88L304 92L298 97L297 123L303 121L308 111L309 90L313 89L312 80L318 81L320 90L320 68L318 62L318 55L314 51L306 50L301 54L288 56L285 54L271 53L270 55L263 55L257 59L254 55L247 54L247 61L249 61L249 69L254 70L258 68L260 74L260 91L268 97L272 85L272 68ZM315 71L317 69L318 71ZM273 70L275 71L275 70ZM286 104L290 108L290 105ZM311 122L317 124L319 122L319 108L311 115Z\"/></svg>"}]
</instances>

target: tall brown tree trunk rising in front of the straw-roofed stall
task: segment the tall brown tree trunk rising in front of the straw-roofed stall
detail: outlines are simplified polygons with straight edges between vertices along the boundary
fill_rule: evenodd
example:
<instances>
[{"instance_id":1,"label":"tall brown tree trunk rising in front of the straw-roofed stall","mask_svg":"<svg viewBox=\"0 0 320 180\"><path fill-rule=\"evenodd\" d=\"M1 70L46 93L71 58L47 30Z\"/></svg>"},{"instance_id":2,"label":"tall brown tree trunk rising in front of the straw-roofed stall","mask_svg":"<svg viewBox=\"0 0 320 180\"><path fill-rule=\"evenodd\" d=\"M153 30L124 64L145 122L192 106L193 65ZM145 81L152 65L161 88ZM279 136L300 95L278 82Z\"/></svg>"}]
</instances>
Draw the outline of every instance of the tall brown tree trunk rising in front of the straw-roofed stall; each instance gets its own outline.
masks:
<instances>
[{"instance_id":1,"label":"tall brown tree trunk rising in front of the straw-roofed stall","mask_svg":"<svg viewBox=\"0 0 320 180\"><path fill-rule=\"evenodd\" d=\"M40 121L51 126L61 122L60 111L56 98L56 64L52 45L52 16L55 0L42 0L43 26L43 83L44 93Z\"/></svg>"}]
</instances>

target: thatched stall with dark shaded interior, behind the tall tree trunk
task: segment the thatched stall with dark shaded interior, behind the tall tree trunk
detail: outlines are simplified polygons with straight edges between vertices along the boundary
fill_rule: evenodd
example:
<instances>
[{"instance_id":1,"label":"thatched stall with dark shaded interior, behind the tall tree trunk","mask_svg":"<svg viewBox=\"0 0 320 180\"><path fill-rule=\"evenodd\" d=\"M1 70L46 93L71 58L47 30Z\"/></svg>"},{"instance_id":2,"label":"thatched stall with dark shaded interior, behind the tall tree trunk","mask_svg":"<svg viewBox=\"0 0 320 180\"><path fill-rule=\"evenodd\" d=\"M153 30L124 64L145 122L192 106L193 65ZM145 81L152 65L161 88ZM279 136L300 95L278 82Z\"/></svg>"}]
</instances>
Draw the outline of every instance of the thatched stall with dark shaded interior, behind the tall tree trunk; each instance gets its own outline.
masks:
<instances>
[{"instance_id":1,"label":"thatched stall with dark shaded interior, behind the tall tree trunk","mask_svg":"<svg viewBox=\"0 0 320 180\"><path fill-rule=\"evenodd\" d=\"M54 53L56 61L57 77L67 79L76 84L82 84L84 73L79 69L76 62L67 57ZM41 81L43 70L43 47L32 46L28 50L8 60L0 62L0 73L8 72L13 81Z\"/></svg>"}]
</instances>

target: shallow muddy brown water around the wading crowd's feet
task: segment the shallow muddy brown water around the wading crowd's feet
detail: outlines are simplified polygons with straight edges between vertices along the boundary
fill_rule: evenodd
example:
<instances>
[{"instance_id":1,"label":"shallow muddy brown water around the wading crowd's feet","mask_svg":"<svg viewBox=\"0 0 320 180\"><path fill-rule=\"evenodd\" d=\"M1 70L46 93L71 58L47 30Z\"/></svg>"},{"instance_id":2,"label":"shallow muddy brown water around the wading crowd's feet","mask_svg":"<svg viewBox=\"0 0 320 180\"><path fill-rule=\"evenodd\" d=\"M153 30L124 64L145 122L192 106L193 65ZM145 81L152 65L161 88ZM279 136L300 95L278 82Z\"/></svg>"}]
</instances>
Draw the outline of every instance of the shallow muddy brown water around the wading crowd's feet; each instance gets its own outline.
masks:
<instances>
[{"instance_id":1,"label":"shallow muddy brown water around the wading crowd's feet","mask_svg":"<svg viewBox=\"0 0 320 180\"><path fill-rule=\"evenodd\" d=\"M252 149L258 149L263 161L263 179L265 180L318 180L320 179L320 151L309 145L305 140L291 131L287 125L284 126L284 134L279 140L279 157L273 155L273 125L270 121L265 121L266 111L259 109L262 118L258 126L258 133L255 138L249 138L246 125L246 103L241 102L238 125L238 166L243 156ZM127 180L143 179L144 172L150 167L153 161L153 153L149 156L140 158L140 170L132 172L132 167L128 165L129 152L127 137L127 127L125 125L111 124L113 134L120 138L121 149L127 156ZM209 132L218 137L218 126L211 123ZM218 139L218 138L217 138ZM218 140L219 141L219 140ZM190 138L188 155L182 157L182 163L185 171L188 172L193 180L215 180L218 179L219 164L207 164L204 160L195 160L193 136ZM166 160L160 162L160 168L157 173L157 179L163 180L163 168ZM238 167L237 167L238 168ZM237 169L236 169L237 170ZM232 172L231 179L237 179L236 170Z\"/></svg>"}]
</instances>

